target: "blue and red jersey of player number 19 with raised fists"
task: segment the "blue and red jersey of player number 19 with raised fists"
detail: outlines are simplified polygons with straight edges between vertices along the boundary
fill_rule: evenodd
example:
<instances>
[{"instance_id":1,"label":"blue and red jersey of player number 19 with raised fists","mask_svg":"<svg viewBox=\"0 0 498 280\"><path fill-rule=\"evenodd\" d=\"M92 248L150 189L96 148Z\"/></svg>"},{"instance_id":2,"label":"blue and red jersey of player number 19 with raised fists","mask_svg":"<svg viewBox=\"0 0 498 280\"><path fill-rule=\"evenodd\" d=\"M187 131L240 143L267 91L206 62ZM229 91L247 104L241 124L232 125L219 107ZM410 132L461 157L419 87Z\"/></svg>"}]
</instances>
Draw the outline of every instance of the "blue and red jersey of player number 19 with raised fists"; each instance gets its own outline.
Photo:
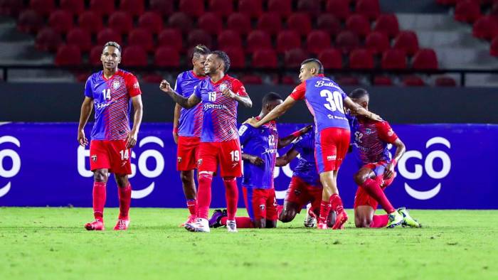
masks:
<instances>
[{"instance_id":1,"label":"blue and red jersey of player number 19 with raised fists","mask_svg":"<svg viewBox=\"0 0 498 280\"><path fill-rule=\"evenodd\" d=\"M201 142L225 142L238 139L238 102L231 97L223 96L221 92L225 87L235 95L248 96L242 82L228 75L218 82L206 78L194 88L194 94L202 101Z\"/></svg>"}]
</instances>

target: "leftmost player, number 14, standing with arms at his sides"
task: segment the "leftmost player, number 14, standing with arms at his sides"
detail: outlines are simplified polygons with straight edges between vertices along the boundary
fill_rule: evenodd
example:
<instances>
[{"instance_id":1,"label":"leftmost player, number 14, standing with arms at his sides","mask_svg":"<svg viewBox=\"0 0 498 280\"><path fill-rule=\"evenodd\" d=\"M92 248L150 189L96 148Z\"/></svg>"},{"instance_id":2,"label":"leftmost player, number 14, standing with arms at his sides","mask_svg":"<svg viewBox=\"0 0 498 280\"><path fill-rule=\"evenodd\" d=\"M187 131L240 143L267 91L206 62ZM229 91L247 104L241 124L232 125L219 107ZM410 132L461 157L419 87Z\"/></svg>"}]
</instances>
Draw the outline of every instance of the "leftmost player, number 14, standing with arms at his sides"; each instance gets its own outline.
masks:
<instances>
[{"instance_id":1,"label":"leftmost player, number 14, standing with arms at his sides","mask_svg":"<svg viewBox=\"0 0 498 280\"><path fill-rule=\"evenodd\" d=\"M100 56L104 70L95 72L85 84L85 100L81 105L78 142L88 144L83 131L95 104L95 124L90 141L90 169L93 171L93 215L95 220L85 225L87 230L104 230L105 185L107 174L114 173L120 198L120 216L115 230L127 230L132 186L128 175L132 173L129 158L137 144L142 123L142 92L137 77L118 69L121 46L115 42L104 45ZM133 104L133 127L129 129L130 105Z\"/></svg>"}]
</instances>

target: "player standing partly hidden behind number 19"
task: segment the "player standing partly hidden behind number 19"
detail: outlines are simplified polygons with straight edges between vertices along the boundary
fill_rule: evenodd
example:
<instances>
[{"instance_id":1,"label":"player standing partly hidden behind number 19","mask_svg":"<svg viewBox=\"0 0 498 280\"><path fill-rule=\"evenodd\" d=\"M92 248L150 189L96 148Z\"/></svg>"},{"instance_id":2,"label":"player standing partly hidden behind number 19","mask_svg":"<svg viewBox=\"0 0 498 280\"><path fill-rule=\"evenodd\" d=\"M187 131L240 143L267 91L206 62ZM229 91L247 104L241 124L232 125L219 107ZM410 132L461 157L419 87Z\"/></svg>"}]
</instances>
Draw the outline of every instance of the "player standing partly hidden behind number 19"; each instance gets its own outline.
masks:
<instances>
[{"instance_id":1,"label":"player standing partly hidden behind number 19","mask_svg":"<svg viewBox=\"0 0 498 280\"><path fill-rule=\"evenodd\" d=\"M194 87L206 77L204 63L210 50L205 45L196 45L192 55L194 68L181 72L176 78L175 91L179 95L189 97L194 92ZM190 109L182 108L176 104L174 108L173 138L178 149L176 151L176 170L180 171L181 186L184 189L186 205L189 208L189 218L181 225L195 222L197 211L196 183L194 169L197 164L198 145L201 141L202 128L201 103Z\"/></svg>"}]
</instances>

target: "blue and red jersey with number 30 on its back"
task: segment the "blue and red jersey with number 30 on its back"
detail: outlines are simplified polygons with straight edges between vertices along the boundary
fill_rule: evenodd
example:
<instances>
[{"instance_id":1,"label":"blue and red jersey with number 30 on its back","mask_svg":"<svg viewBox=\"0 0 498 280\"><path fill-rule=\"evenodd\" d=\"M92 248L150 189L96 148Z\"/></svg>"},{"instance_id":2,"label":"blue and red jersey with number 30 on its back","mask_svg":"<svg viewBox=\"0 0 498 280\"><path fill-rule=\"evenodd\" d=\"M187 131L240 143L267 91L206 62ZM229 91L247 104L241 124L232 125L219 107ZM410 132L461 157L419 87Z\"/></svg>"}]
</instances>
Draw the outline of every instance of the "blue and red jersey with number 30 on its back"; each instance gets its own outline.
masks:
<instances>
[{"instance_id":1,"label":"blue and red jersey with number 30 on its back","mask_svg":"<svg viewBox=\"0 0 498 280\"><path fill-rule=\"evenodd\" d=\"M290 97L295 100L305 99L317 132L329 127L349 130L343 106L346 93L328 77L318 75L305 80L295 87Z\"/></svg>"}]
</instances>

